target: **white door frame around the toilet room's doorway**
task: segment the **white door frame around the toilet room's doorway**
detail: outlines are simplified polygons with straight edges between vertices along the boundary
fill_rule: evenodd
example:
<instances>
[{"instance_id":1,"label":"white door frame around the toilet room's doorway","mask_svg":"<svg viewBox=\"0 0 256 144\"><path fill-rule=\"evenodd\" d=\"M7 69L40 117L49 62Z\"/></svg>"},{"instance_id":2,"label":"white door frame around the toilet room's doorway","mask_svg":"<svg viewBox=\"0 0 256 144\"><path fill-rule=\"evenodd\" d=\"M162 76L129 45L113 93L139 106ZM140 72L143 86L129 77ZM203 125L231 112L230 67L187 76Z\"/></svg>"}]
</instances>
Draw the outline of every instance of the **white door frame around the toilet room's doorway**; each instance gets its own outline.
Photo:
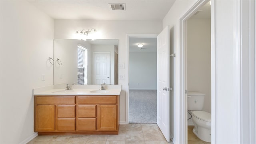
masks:
<instances>
[{"instance_id":1,"label":"white door frame around the toilet room's doorway","mask_svg":"<svg viewBox=\"0 0 256 144\"><path fill-rule=\"evenodd\" d=\"M180 111L180 136L179 142L186 144L188 142L188 116L187 116L187 20L193 16L202 6L204 6L210 0L198 0L179 20L179 111ZM215 68L215 17L214 17L214 1L211 3L211 103L212 103L212 143L215 143L215 79L216 79L216 68Z\"/></svg>"}]
</instances>

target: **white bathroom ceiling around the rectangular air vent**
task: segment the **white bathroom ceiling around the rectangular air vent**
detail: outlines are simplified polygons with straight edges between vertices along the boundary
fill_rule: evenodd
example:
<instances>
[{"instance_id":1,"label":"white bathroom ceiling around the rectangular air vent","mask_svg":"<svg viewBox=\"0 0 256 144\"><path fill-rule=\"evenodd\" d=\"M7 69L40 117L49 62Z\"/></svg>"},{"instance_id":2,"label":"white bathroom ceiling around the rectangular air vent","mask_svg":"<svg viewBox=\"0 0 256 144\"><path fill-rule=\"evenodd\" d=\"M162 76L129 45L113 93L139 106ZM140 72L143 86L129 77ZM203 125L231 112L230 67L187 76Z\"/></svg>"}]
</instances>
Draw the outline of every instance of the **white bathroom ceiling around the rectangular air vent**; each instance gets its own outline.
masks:
<instances>
[{"instance_id":1,"label":"white bathroom ceiling around the rectangular air vent","mask_svg":"<svg viewBox=\"0 0 256 144\"><path fill-rule=\"evenodd\" d=\"M175 0L28 0L53 19L162 20ZM125 4L111 10L108 4Z\"/></svg>"}]
</instances>

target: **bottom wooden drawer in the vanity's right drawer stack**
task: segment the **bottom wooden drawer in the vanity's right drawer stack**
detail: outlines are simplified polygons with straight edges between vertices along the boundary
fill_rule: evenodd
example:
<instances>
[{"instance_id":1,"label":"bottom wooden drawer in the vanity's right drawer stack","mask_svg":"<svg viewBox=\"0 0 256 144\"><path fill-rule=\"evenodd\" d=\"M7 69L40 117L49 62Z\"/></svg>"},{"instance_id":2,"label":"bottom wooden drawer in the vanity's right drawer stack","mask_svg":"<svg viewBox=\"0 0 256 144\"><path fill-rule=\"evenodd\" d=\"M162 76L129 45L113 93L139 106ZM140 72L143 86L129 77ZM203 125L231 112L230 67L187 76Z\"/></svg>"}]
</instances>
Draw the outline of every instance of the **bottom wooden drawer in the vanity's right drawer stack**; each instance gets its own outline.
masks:
<instances>
[{"instance_id":1,"label":"bottom wooden drawer in the vanity's right drawer stack","mask_svg":"<svg viewBox=\"0 0 256 144\"><path fill-rule=\"evenodd\" d=\"M78 118L76 126L78 131L96 130L96 118Z\"/></svg>"}]
</instances>

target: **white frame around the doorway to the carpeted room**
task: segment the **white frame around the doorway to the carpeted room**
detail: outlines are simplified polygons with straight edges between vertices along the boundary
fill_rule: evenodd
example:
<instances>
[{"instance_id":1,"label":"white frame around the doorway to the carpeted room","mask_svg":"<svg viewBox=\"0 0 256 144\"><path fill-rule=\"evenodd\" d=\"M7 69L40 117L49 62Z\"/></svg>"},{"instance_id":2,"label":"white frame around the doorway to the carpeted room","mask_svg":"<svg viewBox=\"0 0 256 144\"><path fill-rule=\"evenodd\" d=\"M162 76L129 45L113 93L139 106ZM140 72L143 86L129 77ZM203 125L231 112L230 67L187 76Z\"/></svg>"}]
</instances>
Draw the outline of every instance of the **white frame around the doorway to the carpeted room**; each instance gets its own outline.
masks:
<instances>
[{"instance_id":1,"label":"white frame around the doorway to the carpeted room","mask_svg":"<svg viewBox=\"0 0 256 144\"><path fill-rule=\"evenodd\" d=\"M158 34L126 34L126 124L129 124L129 38L157 38Z\"/></svg>"}]
</instances>

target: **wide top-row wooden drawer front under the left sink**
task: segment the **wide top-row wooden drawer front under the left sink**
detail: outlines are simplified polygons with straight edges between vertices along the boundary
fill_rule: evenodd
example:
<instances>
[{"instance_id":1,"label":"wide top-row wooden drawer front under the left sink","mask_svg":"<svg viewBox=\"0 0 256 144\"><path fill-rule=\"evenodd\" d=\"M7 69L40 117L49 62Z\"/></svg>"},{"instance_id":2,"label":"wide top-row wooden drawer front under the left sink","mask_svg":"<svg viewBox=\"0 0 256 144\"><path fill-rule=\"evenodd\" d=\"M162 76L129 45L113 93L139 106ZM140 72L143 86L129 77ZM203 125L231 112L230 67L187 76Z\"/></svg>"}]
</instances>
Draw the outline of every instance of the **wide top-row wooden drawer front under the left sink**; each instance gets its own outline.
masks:
<instances>
[{"instance_id":1,"label":"wide top-row wooden drawer front under the left sink","mask_svg":"<svg viewBox=\"0 0 256 144\"><path fill-rule=\"evenodd\" d=\"M75 104L75 96L36 96L36 104Z\"/></svg>"}]
</instances>

